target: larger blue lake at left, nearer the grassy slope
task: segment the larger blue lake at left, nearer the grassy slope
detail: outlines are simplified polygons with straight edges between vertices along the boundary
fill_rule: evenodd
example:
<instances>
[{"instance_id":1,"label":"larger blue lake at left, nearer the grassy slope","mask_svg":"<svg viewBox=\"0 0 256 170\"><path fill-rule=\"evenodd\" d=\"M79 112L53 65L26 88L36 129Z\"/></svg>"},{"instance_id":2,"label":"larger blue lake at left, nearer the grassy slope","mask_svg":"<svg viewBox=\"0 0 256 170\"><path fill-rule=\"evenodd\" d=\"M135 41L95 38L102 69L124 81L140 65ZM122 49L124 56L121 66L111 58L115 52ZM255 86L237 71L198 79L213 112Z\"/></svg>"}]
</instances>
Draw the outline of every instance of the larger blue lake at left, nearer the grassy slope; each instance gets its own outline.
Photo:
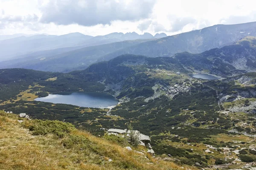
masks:
<instances>
[{"instance_id":1,"label":"larger blue lake at left, nearer the grassy slope","mask_svg":"<svg viewBox=\"0 0 256 170\"><path fill-rule=\"evenodd\" d=\"M47 97L35 99L40 102L62 103L88 108L109 108L119 102L110 94L97 92L74 92L72 94L60 95L49 94Z\"/></svg>"}]
</instances>

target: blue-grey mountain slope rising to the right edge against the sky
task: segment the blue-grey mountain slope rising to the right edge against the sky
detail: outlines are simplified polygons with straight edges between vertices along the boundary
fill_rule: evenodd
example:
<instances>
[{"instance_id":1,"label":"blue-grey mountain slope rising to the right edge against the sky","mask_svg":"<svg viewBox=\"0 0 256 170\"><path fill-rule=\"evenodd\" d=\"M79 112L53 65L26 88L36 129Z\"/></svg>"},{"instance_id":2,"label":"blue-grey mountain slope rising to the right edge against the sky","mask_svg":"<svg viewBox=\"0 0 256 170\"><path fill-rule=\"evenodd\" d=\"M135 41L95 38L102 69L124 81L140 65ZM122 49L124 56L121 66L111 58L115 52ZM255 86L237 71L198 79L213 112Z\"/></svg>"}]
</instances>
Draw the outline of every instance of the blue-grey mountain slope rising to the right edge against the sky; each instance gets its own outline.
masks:
<instances>
[{"instance_id":1,"label":"blue-grey mountain slope rising to the right edge against the sky","mask_svg":"<svg viewBox=\"0 0 256 170\"><path fill-rule=\"evenodd\" d=\"M168 36L159 40L143 42L108 54L111 59L122 54L145 55L148 57L170 57L180 52L202 53L212 48L221 48L246 36L256 36L256 22L236 25L215 25L201 30Z\"/></svg>"}]
</instances>

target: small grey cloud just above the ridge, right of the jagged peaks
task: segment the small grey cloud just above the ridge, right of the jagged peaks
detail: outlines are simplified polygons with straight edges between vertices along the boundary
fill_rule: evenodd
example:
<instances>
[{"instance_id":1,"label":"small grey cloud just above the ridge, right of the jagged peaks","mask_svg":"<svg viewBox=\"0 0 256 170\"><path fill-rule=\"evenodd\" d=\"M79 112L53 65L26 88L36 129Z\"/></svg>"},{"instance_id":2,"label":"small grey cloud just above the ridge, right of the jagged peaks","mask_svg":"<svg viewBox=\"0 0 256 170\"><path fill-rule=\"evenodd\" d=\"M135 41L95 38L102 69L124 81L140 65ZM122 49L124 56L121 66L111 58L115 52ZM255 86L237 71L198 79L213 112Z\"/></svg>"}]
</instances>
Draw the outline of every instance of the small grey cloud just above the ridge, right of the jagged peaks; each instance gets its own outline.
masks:
<instances>
[{"instance_id":1,"label":"small grey cloud just above the ridge, right of the jagged peaks","mask_svg":"<svg viewBox=\"0 0 256 170\"><path fill-rule=\"evenodd\" d=\"M175 20L171 24L172 28L170 29L170 31L172 32L181 31L188 24L194 24L197 22L197 20L195 20L192 17L183 17L183 18L170 17L170 18L175 18Z\"/></svg>"}]
</instances>

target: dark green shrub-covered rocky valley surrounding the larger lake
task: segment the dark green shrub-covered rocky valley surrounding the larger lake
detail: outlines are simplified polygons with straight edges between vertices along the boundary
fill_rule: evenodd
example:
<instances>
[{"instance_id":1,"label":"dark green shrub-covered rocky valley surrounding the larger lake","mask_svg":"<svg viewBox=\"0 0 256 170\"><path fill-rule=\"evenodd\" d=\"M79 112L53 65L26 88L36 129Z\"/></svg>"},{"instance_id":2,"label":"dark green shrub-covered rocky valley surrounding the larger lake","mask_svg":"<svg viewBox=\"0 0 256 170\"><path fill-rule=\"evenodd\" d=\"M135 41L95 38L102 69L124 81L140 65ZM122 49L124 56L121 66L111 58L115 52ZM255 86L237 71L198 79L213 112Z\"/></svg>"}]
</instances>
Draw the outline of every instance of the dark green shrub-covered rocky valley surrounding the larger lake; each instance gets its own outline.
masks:
<instances>
[{"instance_id":1,"label":"dark green shrub-covered rocky valley surrounding the larger lake","mask_svg":"<svg viewBox=\"0 0 256 170\"><path fill-rule=\"evenodd\" d=\"M167 161L205 169L254 166L256 74L238 70L221 80L197 79L189 75L198 65L183 64L171 57L122 55L67 74L4 69L0 109L70 122L94 135L131 122ZM108 93L121 103L109 110L33 101L75 91Z\"/></svg>"}]
</instances>

